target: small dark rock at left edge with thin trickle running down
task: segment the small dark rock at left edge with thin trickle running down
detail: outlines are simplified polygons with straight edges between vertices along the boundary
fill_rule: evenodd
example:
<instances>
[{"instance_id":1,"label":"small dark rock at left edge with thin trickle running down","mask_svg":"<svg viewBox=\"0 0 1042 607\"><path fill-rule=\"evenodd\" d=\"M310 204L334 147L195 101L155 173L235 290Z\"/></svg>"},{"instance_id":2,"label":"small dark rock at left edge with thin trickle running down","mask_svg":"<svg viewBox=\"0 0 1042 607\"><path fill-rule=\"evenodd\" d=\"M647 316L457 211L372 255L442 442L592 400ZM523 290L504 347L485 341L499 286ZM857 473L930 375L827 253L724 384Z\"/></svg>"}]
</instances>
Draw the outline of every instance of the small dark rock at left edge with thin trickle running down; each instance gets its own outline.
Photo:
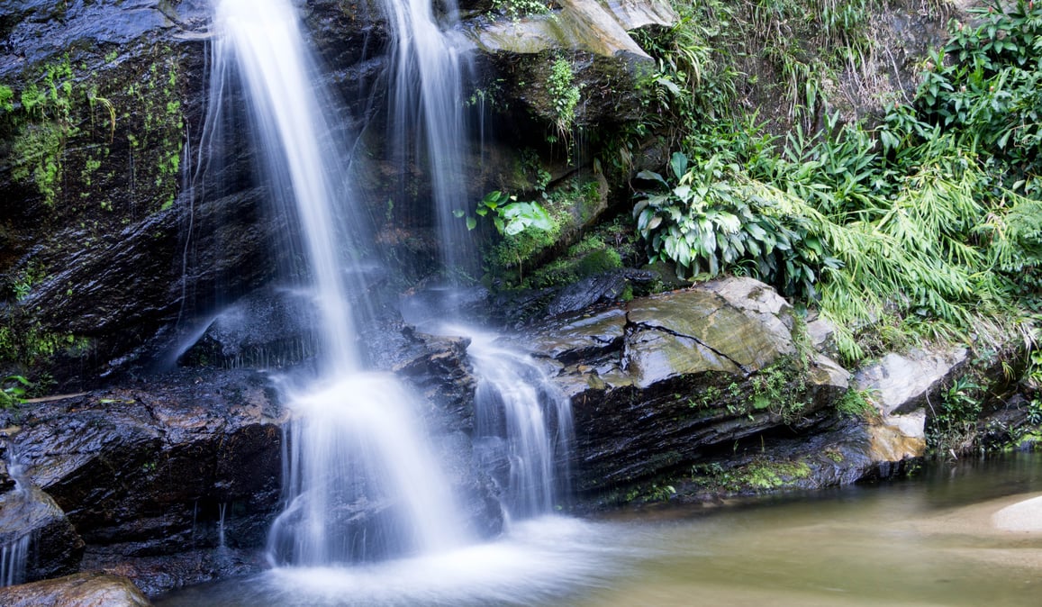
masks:
<instances>
[{"instance_id":1,"label":"small dark rock at left edge with thin trickle running down","mask_svg":"<svg viewBox=\"0 0 1042 607\"><path fill-rule=\"evenodd\" d=\"M4 568L16 566L19 551L25 557L24 571L6 571L17 582L75 573L83 556L83 540L61 508L28 483L0 495L0 547Z\"/></svg>"}]
</instances>

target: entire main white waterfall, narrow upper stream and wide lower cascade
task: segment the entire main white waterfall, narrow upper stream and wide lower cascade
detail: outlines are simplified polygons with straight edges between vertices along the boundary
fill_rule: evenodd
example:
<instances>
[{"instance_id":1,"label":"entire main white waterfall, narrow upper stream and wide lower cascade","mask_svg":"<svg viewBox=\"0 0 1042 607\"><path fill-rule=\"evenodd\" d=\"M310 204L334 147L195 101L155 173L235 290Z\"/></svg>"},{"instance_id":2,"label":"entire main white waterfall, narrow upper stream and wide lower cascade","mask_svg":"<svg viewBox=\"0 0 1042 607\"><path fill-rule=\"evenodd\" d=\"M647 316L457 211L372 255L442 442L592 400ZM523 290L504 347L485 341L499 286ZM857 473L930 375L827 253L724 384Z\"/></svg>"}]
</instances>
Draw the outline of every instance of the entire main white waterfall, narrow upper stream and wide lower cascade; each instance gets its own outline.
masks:
<instances>
[{"instance_id":1,"label":"entire main white waterfall, narrow upper stream and wide lower cascade","mask_svg":"<svg viewBox=\"0 0 1042 607\"><path fill-rule=\"evenodd\" d=\"M215 23L210 103L231 86L221 76L238 72L272 198L299 225L322 336L318 379L289 388L296 422L270 557L326 565L454 546L462 525L408 395L390 376L361 368L348 296L362 290L351 222L364 213L297 16L289 0L218 0Z\"/></svg>"}]
</instances>

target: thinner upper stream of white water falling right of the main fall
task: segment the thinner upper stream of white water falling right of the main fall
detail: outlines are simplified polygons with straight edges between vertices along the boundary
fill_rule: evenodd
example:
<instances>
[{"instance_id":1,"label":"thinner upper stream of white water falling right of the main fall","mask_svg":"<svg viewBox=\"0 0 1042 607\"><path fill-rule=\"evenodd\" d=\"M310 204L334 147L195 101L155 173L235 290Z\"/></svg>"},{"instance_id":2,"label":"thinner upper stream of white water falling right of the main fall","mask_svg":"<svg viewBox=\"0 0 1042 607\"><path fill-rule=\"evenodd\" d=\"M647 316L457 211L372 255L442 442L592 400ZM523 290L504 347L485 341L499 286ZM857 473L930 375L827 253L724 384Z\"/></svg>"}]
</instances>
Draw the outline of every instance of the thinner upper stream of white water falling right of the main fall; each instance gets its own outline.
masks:
<instances>
[{"instance_id":1,"label":"thinner upper stream of white water falling right of the main fall","mask_svg":"<svg viewBox=\"0 0 1042 607\"><path fill-rule=\"evenodd\" d=\"M405 165L415 155L426 160L439 226L442 264L455 270L473 259L466 224L455 209L470 210L467 183L467 121L464 107L466 73L462 36L446 35L431 8L431 0L381 0L391 22L391 142L392 153ZM444 27L457 22L455 0L444 4ZM408 175L401 171L402 176Z\"/></svg>"}]
</instances>

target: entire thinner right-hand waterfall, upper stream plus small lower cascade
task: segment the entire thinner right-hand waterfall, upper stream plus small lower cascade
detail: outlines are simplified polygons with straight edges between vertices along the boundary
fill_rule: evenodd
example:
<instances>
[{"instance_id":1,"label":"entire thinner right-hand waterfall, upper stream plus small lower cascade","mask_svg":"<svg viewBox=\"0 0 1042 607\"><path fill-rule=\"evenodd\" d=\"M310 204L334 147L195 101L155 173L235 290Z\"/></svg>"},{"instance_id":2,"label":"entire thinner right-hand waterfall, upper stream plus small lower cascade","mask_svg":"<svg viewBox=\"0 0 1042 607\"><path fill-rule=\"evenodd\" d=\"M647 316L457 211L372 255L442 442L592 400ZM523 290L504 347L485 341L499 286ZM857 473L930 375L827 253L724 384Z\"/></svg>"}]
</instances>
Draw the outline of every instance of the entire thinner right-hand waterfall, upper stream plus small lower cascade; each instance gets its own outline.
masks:
<instances>
[{"instance_id":1,"label":"entire thinner right-hand waterfall, upper stream plus small lower cascade","mask_svg":"<svg viewBox=\"0 0 1042 607\"><path fill-rule=\"evenodd\" d=\"M456 25L455 3L446 4L444 28L435 19L430 0L383 0L383 6L395 59L393 141L404 150L410 133L424 133L442 262L450 274L466 272L475 254L466 225L453 212L472 206L463 171L469 145L463 94L466 53L445 33ZM452 288L443 290L447 301L442 305L454 307L455 295ZM554 395L530 357L496 347L493 338L473 329L451 331L473 336L468 352L479 378L475 450L500 482L505 511L513 517L551 512L562 495L557 478L564 475L557 475L557 462L567 458L571 437L568 399Z\"/></svg>"}]
</instances>

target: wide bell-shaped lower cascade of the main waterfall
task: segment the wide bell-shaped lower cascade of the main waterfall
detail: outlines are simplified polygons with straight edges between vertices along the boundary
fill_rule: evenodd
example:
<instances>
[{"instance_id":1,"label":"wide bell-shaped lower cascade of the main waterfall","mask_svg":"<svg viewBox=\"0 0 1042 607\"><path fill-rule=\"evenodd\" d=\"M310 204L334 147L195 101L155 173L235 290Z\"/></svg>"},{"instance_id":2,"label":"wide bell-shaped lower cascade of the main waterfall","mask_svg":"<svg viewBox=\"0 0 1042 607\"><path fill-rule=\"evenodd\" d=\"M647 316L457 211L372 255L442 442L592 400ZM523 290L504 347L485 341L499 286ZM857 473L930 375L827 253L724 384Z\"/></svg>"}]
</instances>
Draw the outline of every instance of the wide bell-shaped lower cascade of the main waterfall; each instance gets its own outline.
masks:
<instances>
[{"instance_id":1,"label":"wide bell-shaped lower cascade of the main waterfall","mask_svg":"<svg viewBox=\"0 0 1042 607\"><path fill-rule=\"evenodd\" d=\"M322 565L458 545L448 483L424 447L408 395L389 376L353 374L294 398L289 478L275 521L277 564Z\"/></svg>"}]
</instances>

